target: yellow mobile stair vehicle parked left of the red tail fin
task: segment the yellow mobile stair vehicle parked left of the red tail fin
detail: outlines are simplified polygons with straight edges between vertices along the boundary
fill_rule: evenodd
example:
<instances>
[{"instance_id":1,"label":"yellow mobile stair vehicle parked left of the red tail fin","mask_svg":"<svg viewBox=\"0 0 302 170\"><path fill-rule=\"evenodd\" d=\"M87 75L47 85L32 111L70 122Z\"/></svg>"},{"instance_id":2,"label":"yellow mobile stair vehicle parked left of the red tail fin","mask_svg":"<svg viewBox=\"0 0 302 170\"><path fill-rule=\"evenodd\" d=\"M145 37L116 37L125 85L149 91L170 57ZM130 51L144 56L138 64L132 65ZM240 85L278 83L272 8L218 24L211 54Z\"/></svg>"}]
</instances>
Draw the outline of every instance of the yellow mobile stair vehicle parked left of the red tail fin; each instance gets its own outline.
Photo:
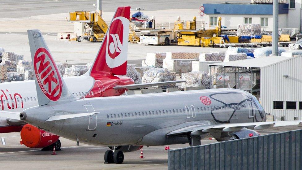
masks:
<instances>
[{"instance_id":1,"label":"yellow mobile stair vehicle parked left of the red tail fin","mask_svg":"<svg viewBox=\"0 0 302 170\"><path fill-rule=\"evenodd\" d=\"M85 23L82 35L77 37L79 42L84 39L92 42L102 41L108 29L108 25L98 12L69 12L69 20L67 21Z\"/></svg>"}]
</instances>

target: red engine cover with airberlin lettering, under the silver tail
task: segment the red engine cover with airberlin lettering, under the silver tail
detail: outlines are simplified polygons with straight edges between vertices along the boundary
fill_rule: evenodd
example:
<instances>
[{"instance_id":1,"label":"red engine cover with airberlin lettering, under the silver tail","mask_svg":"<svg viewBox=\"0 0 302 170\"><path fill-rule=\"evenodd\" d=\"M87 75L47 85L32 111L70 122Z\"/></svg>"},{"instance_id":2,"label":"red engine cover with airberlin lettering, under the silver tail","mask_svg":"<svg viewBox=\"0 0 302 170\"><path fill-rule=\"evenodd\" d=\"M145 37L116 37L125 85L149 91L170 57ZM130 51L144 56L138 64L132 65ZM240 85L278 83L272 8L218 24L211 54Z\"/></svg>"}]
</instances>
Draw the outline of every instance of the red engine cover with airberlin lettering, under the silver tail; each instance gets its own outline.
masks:
<instances>
[{"instance_id":1,"label":"red engine cover with airberlin lettering, under the silver tail","mask_svg":"<svg viewBox=\"0 0 302 170\"><path fill-rule=\"evenodd\" d=\"M50 146L59 139L59 136L50 132L45 132L44 130L38 129L30 124L24 125L20 136L22 139L20 143L23 143L25 146L30 148L43 148Z\"/></svg>"}]
</instances>

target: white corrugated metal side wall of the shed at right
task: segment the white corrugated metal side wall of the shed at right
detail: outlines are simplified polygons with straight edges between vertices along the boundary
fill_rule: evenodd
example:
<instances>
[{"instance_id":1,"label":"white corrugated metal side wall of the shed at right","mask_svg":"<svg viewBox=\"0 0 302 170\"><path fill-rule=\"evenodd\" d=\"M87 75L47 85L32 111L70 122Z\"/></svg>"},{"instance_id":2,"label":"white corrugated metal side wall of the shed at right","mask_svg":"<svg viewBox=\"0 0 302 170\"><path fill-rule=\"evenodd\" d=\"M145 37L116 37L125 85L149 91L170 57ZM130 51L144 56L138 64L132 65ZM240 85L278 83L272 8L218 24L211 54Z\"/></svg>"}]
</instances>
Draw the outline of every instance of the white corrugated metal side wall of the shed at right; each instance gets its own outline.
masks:
<instances>
[{"instance_id":1,"label":"white corrugated metal side wall of the shed at right","mask_svg":"<svg viewBox=\"0 0 302 170\"><path fill-rule=\"evenodd\" d=\"M283 75L288 75L284 77ZM281 116L285 120L302 120L302 56L261 68L260 99L266 113L273 114L275 120ZM283 101L284 109L273 109L273 101ZM287 110L285 102L297 102L296 110Z\"/></svg>"}]
</instances>

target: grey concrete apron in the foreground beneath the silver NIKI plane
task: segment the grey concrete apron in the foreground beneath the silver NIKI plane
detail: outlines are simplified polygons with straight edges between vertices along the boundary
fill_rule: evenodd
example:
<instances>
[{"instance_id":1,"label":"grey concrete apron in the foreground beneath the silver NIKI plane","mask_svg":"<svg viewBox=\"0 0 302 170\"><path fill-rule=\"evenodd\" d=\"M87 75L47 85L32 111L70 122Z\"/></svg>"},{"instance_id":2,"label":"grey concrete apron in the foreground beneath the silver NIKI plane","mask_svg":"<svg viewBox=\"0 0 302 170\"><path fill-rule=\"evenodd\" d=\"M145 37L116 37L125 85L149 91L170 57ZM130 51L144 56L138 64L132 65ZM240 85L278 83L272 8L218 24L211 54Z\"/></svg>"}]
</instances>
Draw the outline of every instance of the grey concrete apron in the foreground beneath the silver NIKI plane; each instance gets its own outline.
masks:
<instances>
[{"instance_id":1,"label":"grey concrete apron in the foreground beneath the silver NIKI plane","mask_svg":"<svg viewBox=\"0 0 302 170\"><path fill-rule=\"evenodd\" d=\"M278 133L282 131L301 129L301 126L288 126L286 128L273 128L259 131L261 135ZM144 146L143 156L139 159L140 151L127 152L124 154L123 164L104 164L104 153L108 147L91 146L81 144L60 137L62 150L57 155L51 155L52 151L41 151L36 148L28 148L20 145L20 133L2 133L0 142L0 165L1 169L167 169L168 152L166 146ZM209 139L201 140L201 144L217 142ZM168 145L167 145L168 146ZM183 145L169 145L170 149L188 147Z\"/></svg>"}]
</instances>

